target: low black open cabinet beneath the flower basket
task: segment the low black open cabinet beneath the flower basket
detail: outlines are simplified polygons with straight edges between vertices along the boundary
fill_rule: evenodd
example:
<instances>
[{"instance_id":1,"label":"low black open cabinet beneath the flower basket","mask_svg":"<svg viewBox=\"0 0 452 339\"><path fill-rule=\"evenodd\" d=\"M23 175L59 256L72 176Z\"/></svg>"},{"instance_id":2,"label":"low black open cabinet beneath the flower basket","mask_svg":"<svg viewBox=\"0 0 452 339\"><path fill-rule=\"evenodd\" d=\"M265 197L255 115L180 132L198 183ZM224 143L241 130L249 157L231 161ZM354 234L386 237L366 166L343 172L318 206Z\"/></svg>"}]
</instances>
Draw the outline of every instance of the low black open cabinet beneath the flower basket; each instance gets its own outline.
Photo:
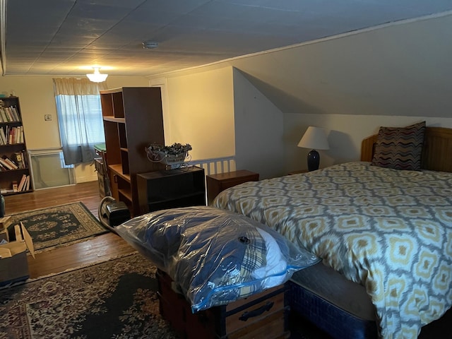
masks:
<instances>
[{"instance_id":1,"label":"low black open cabinet beneath the flower basket","mask_svg":"<svg viewBox=\"0 0 452 339\"><path fill-rule=\"evenodd\" d=\"M139 213L206 206L204 169L187 167L137 175Z\"/></svg>"}]
</instances>

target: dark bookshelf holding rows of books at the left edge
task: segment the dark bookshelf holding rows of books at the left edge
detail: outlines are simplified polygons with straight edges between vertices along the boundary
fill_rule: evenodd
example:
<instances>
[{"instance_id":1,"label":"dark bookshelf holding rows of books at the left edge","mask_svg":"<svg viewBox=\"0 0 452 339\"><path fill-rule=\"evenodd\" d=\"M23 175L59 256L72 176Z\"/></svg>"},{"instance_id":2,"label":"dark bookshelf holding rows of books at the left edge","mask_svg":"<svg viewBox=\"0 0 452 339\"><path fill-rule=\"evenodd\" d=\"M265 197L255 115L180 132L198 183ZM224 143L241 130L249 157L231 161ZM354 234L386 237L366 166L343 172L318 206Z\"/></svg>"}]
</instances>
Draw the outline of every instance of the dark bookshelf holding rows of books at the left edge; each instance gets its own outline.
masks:
<instances>
[{"instance_id":1,"label":"dark bookshelf holding rows of books at the left edge","mask_svg":"<svg viewBox=\"0 0 452 339\"><path fill-rule=\"evenodd\" d=\"M2 166L0 171L0 189L1 194L4 196L10 194L20 194L33 191L32 179L30 177L30 167L28 164L28 151L25 143L25 133L23 133L22 114L20 112L20 103L18 97L0 97L0 103L3 107L14 107L16 109L18 119L3 118L0 119L0 128L4 130L6 136L6 143L0 145L0 157L6 157L12 160L18 168L9 169ZM3 116L3 113L1 114ZM22 128L23 136L15 136L9 139L9 131ZM16 159L16 156L20 155L21 161ZM20 181L25 177L28 177L28 189L26 186L24 189L18 191L13 189L13 183L17 184L18 188Z\"/></svg>"}]
</instances>

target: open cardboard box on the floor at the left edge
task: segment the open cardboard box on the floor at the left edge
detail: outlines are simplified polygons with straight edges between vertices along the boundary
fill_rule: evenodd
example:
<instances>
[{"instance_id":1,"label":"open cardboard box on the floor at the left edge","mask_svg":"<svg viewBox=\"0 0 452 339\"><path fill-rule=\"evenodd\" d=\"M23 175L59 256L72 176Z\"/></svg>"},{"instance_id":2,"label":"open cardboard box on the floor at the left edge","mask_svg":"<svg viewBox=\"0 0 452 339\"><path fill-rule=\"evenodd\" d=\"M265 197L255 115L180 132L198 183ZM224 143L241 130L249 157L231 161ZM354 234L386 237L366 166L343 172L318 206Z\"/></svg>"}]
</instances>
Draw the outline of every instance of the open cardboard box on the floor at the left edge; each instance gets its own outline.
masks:
<instances>
[{"instance_id":1,"label":"open cardboard box on the floor at the left edge","mask_svg":"<svg viewBox=\"0 0 452 339\"><path fill-rule=\"evenodd\" d=\"M0 286L27 280L28 272L27 249L35 258L35 249L30 234L22 222L14 226L16 239L8 244L0 245Z\"/></svg>"}]
</instances>

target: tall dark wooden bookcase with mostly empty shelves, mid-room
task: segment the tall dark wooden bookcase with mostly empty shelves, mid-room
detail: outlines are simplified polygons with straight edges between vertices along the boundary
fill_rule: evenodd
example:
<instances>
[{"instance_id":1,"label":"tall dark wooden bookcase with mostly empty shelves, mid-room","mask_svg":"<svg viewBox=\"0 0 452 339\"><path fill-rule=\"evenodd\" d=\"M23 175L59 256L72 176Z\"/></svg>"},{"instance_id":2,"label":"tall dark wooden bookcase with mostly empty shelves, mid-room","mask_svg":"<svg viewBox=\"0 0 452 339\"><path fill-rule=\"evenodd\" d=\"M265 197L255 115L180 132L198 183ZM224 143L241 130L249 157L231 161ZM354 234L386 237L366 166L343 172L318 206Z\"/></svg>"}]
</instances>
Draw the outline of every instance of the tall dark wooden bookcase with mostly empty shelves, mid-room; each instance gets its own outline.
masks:
<instances>
[{"instance_id":1,"label":"tall dark wooden bookcase with mostly empty shelves, mid-room","mask_svg":"<svg viewBox=\"0 0 452 339\"><path fill-rule=\"evenodd\" d=\"M106 160L112 196L139 214L136 174L165 169L150 162L145 147L165 143L160 88L123 87L100 91Z\"/></svg>"}]
</instances>

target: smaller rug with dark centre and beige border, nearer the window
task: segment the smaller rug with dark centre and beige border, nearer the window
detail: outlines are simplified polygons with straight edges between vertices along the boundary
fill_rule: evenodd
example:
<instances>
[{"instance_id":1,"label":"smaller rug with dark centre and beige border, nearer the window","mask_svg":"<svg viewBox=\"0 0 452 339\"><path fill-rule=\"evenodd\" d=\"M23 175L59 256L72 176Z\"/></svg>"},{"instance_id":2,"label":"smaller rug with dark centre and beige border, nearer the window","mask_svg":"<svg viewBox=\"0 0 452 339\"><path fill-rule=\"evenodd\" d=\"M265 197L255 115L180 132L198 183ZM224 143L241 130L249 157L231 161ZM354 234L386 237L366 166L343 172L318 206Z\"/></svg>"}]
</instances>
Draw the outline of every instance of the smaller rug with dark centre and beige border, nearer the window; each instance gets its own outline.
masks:
<instances>
[{"instance_id":1,"label":"smaller rug with dark centre and beige border, nearer the window","mask_svg":"<svg viewBox=\"0 0 452 339\"><path fill-rule=\"evenodd\" d=\"M81 202L13 214L10 234L20 221L30 233L37 253L109 232Z\"/></svg>"}]
</instances>

